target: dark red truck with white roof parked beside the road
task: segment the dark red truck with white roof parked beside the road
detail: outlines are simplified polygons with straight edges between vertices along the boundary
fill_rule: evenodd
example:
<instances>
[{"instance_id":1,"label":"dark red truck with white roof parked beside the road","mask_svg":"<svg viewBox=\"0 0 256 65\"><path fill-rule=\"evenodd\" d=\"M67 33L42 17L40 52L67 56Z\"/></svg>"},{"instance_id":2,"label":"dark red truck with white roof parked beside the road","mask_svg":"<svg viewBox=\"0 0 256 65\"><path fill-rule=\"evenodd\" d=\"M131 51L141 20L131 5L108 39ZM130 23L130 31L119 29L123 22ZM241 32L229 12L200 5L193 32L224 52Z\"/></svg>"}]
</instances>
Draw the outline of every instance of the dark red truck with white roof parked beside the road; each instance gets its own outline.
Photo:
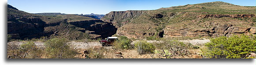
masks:
<instances>
[{"instance_id":1,"label":"dark red truck with white roof parked beside the road","mask_svg":"<svg viewBox=\"0 0 256 65\"><path fill-rule=\"evenodd\" d=\"M99 42L102 46L111 45L115 40L118 40L117 37L108 37L106 40L100 40Z\"/></svg>"}]
</instances>

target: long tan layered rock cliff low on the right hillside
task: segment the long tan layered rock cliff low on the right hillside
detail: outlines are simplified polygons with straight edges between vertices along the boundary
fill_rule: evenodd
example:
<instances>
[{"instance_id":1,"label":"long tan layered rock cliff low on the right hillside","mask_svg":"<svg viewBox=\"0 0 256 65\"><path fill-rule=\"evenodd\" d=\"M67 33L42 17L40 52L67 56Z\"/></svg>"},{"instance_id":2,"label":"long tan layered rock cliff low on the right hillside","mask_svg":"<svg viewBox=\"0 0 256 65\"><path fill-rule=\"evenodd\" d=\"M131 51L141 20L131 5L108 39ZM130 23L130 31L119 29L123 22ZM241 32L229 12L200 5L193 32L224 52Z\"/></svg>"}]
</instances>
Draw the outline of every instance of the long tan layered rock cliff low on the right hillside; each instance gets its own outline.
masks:
<instances>
[{"instance_id":1,"label":"long tan layered rock cliff low on the right hillside","mask_svg":"<svg viewBox=\"0 0 256 65\"><path fill-rule=\"evenodd\" d=\"M172 36L230 36L236 34L255 34L255 27L234 27L232 25L218 25L210 29L164 29L165 37ZM250 32L249 32L250 31Z\"/></svg>"}]
</instances>

